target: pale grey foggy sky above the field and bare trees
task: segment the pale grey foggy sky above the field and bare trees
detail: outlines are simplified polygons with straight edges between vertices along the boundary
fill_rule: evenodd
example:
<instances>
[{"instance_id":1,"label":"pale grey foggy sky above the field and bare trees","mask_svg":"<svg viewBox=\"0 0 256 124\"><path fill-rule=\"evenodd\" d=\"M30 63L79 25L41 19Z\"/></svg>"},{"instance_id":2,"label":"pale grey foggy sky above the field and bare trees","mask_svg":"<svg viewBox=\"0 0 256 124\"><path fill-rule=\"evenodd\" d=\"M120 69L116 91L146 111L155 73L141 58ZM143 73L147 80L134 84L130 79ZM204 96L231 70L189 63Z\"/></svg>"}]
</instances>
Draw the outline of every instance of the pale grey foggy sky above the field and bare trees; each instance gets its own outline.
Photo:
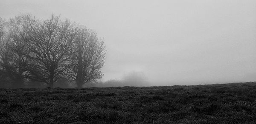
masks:
<instances>
[{"instance_id":1,"label":"pale grey foggy sky above the field and bare trees","mask_svg":"<svg viewBox=\"0 0 256 124\"><path fill-rule=\"evenodd\" d=\"M0 0L0 17L61 14L105 39L103 81L256 81L256 0Z\"/></svg>"}]
</instances>

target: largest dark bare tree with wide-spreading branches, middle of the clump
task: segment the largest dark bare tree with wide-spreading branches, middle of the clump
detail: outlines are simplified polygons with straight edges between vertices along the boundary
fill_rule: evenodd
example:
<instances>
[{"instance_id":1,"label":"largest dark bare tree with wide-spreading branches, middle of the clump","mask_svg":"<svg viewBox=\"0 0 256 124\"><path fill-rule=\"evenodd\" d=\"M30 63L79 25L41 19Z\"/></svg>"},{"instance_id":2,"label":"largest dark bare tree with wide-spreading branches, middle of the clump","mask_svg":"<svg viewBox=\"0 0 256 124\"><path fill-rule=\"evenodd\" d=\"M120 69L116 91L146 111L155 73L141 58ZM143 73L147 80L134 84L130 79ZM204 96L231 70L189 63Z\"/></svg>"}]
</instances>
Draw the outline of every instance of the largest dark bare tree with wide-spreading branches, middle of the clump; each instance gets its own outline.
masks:
<instances>
[{"instance_id":1,"label":"largest dark bare tree with wide-spreading branches, middle of the clump","mask_svg":"<svg viewBox=\"0 0 256 124\"><path fill-rule=\"evenodd\" d=\"M69 68L69 52L76 28L70 20L61 21L54 15L49 20L25 24L23 37L26 40L29 78L53 87Z\"/></svg>"}]
</instances>

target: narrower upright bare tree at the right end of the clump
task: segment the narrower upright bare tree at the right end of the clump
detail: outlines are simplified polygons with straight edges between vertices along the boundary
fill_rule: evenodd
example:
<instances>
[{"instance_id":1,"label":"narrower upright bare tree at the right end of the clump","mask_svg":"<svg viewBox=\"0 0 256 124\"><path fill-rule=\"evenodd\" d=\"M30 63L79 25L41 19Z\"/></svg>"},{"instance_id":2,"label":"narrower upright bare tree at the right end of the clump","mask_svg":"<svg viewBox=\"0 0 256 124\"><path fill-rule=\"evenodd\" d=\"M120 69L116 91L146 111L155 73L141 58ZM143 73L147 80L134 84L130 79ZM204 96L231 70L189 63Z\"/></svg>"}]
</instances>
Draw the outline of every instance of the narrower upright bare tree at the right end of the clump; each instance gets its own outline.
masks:
<instances>
[{"instance_id":1,"label":"narrower upright bare tree at the right end of the clump","mask_svg":"<svg viewBox=\"0 0 256 124\"><path fill-rule=\"evenodd\" d=\"M69 69L71 79L75 80L78 87L87 82L95 81L102 77L101 68L104 65L104 41L97 37L93 30L80 28L72 45L72 60Z\"/></svg>"}]
</instances>

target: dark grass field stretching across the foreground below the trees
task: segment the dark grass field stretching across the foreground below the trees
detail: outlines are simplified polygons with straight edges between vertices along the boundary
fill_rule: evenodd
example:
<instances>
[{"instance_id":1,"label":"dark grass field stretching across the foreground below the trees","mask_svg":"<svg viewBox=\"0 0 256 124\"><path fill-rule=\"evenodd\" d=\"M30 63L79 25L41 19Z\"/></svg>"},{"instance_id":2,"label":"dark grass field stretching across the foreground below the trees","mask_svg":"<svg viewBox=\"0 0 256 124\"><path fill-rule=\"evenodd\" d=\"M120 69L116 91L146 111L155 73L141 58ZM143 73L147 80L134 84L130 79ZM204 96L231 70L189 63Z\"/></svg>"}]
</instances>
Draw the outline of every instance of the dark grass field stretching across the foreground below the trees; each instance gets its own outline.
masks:
<instances>
[{"instance_id":1,"label":"dark grass field stretching across the foreground below the trees","mask_svg":"<svg viewBox=\"0 0 256 124\"><path fill-rule=\"evenodd\" d=\"M6 123L256 123L256 82L163 87L0 89Z\"/></svg>"}]
</instances>

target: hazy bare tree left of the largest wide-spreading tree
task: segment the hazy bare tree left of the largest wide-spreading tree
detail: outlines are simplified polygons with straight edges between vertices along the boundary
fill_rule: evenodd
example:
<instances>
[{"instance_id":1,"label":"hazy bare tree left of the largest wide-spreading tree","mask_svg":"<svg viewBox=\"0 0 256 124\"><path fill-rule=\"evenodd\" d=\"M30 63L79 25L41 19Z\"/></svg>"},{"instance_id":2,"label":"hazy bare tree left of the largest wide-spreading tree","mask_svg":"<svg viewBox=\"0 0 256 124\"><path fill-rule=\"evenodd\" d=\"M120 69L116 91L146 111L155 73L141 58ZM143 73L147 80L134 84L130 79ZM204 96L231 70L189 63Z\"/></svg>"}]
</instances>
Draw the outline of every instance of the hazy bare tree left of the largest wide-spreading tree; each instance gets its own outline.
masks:
<instances>
[{"instance_id":1,"label":"hazy bare tree left of the largest wide-spreading tree","mask_svg":"<svg viewBox=\"0 0 256 124\"><path fill-rule=\"evenodd\" d=\"M20 35L23 33L22 24L31 20L29 14L24 14L11 18L5 26L5 38L1 45L0 66L3 73L9 78L12 87L19 88L24 86L25 73L25 40Z\"/></svg>"}]
</instances>

